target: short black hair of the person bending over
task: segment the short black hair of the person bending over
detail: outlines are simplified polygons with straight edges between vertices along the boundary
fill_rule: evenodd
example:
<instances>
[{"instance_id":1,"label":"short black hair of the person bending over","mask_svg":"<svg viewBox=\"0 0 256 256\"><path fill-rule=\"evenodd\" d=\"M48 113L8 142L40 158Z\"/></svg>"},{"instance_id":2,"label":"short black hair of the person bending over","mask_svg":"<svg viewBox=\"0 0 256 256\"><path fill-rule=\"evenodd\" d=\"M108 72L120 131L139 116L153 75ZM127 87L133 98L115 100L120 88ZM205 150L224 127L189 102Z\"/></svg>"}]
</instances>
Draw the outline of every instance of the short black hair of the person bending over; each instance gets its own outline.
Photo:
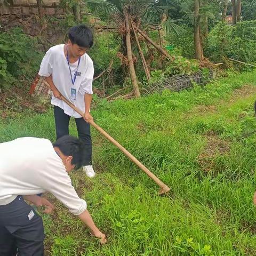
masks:
<instances>
[{"instance_id":1,"label":"short black hair of the person bending over","mask_svg":"<svg viewBox=\"0 0 256 256\"><path fill-rule=\"evenodd\" d=\"M64 135L53 144L53 147L58 147L65 156L73 156L71 164L76 165L75 169L82 166L84 145L81 140Z\"/></svg>"}]
</instances>

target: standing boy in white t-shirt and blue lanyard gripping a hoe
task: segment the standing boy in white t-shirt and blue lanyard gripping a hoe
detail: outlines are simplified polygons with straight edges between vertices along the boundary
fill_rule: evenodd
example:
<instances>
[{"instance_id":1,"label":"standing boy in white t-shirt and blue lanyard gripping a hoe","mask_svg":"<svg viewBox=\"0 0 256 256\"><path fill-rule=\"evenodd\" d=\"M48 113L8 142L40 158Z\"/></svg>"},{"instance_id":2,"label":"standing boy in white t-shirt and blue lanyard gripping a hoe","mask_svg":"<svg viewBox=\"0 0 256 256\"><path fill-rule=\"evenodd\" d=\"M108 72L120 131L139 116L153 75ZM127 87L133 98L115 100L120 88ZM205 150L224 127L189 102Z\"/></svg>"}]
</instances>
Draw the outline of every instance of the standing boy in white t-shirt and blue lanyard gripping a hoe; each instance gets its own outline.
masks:
<instances>
[{"instance_id":1,"label":"standing boy in white t-shirt and blue lanyard gripping a hoe","mask_svg":"<svg viewBox=\"0 0 256 256\"><path fill-rule=\"evenodd\" d=\"M78 137L83 141L83 171L90 178L95 172L92 167L92 140L90 133L90 106L92 101L93 62L86 51L93 45L93 34L85 25L69 29L68 44L51 47L45 54L39 75L46 78L53 92L51 103L54 105L54 118L57 139L69 134L70 117L75 118ZM60 95L84 111L81 116L70 108Z\"/></svg>"}]
</instances>

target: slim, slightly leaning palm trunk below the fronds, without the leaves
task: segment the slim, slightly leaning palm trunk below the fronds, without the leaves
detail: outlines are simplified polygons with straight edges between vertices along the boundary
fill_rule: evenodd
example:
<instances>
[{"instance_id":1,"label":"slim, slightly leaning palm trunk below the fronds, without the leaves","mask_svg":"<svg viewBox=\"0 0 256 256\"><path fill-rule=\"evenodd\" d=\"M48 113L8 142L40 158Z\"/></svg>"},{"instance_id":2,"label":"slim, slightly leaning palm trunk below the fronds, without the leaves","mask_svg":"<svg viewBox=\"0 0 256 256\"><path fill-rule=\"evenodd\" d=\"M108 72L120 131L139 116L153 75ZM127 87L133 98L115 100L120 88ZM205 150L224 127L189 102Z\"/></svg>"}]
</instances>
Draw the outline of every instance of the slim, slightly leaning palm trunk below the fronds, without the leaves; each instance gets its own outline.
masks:
<instances>
[{"instance_id":1,"label":"slim, slightly leaning palm trunk below the fronds, without the leaves","mask_svg":"<svg viewBox=\"0 0 256 256\"><path fill-rule=\"evenodd\" d=\"M126 7L123 8L124 12L124 18L125 18L125 39L126 39L126 50L127 50L127 59L129 62L129 71L130 71L130 77L131 77L131 82L133 85L133 90L135 97L140 97L140 90L139 90L139 85L137 82L137 77L134 69L134 64L133 64L133 58L132 58L132 45L131 45L131 34L130 34L130 15L126 10Z\"/></svg>"}]
</instances>

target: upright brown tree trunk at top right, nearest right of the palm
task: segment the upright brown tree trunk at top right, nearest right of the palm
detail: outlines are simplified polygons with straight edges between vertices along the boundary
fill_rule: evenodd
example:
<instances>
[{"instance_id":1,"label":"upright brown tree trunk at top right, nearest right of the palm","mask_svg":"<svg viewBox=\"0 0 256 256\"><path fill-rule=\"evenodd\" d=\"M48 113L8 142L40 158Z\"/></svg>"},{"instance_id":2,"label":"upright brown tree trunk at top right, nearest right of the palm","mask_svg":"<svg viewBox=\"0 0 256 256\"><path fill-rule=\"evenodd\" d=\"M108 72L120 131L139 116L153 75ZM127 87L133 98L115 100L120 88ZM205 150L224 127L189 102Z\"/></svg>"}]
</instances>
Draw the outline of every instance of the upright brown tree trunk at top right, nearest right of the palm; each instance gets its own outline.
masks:
<instances>
[{"instance_id":1,"label":"upright brown tree trunk at top right, nearest right of the palm","mask_svg":"<svg viewBox=\"0 0 256 256\"><path fill-rule=\"evenodd\" d=\"M202 60L204 53L201 43L201 31L200 31L200 0L195 0L194 6L194 45L195 45L195 58L197 60Z\"/></svg>"}]
</instances>

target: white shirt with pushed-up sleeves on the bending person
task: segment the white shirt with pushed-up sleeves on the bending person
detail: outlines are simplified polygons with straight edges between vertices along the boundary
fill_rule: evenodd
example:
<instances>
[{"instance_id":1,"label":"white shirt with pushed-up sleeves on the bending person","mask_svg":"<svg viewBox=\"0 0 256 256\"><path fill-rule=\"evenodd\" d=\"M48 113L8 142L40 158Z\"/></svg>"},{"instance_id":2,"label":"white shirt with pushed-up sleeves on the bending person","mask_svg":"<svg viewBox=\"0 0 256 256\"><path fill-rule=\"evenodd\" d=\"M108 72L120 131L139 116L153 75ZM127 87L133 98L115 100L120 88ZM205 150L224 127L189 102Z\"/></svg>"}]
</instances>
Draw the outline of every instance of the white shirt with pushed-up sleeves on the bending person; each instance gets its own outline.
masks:
<instances>
[{"instance_id":1,"label":"white shirt with pushed-up sleeves on the bending person","mask_svg":"<svg viewBox=\"0 0 256 256\"><path fill-rule=\"evenodd\" d=\"M78 197L50 140L25 137L0 143L0 205L18 195L45 191L75 215L86 210L86 202Z\"/></svg>"}]
</instances>

